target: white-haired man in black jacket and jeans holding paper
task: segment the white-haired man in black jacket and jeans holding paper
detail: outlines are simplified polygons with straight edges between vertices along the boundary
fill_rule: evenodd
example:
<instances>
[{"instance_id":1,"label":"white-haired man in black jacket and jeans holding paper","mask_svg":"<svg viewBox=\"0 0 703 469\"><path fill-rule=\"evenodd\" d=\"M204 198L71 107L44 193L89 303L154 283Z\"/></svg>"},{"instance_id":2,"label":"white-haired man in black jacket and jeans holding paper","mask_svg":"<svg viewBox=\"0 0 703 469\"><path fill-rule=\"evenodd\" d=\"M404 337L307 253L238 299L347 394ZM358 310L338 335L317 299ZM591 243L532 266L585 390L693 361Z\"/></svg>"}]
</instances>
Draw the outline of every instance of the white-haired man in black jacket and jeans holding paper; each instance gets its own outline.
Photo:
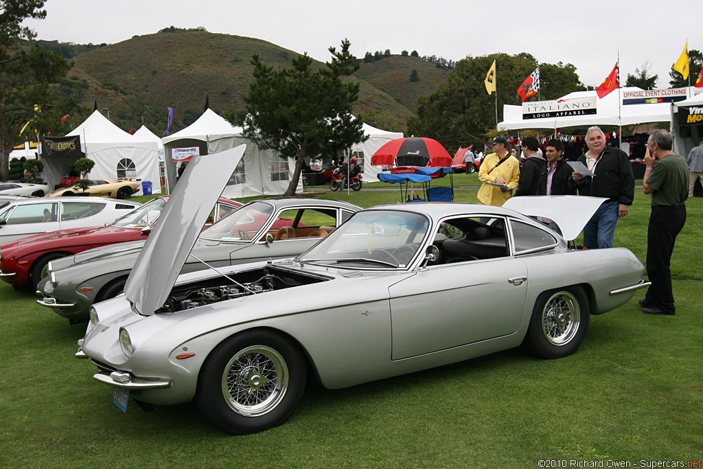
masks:
<instances>
[{"instance_id":1,"label":"white-haired man in black jacket and jeans holding paper","mask_svg":"<svg viewBox=\"0 0 703 469\"><path fill-rule=\"evenodd\" d=\"M615 226L624 217L635 198L635 176L624 151L605 145L605 134L600 127L586 131L588 151L579 161L595 176L573 172L569 186L579 190L579 195L605 197L598 211L583 229L583 245L588 249L612 248Z\"/></svg>"}]
</instances>

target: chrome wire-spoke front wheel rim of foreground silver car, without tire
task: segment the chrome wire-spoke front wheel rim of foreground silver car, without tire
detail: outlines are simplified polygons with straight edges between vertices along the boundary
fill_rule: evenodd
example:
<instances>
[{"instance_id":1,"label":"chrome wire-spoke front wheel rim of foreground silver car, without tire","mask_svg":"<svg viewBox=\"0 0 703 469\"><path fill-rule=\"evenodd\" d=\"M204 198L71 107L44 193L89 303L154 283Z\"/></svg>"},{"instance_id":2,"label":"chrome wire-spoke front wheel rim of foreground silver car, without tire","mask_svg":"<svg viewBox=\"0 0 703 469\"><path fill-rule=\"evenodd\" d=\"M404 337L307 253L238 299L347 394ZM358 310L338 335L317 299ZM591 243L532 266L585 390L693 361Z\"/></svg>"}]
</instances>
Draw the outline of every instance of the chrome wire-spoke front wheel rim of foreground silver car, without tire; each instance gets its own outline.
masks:
<instances>
[{"instance_id":1,"label":"chrome wire-spoke front wheel rim of foreground silver car, without tire","mask_svg":"<svg viewBox=\"0 0 703 469\"><path fill-rule=\"evenodd\" d=\"M243 416L260 416L274 409L288 390L288 366L283 356L264 345L240 350L222 376L227 404Z\"/></svg>"}]
</instances>

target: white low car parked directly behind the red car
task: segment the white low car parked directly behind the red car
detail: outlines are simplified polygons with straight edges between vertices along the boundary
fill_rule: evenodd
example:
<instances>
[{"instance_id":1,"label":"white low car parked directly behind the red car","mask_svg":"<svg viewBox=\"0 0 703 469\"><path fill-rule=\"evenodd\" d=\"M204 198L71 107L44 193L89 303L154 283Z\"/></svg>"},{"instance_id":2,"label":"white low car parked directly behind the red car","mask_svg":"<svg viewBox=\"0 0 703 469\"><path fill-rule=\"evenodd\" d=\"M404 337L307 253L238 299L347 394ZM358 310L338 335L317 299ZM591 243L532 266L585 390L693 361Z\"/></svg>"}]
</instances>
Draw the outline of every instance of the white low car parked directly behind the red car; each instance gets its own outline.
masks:
<instances>
[{"instance_id":1,"label":"white low car parked directly behind the red car","mask_svg":"<svg viewBox=\"0 0 703 469\"><path fill-rule=\"evenodd\" d=\"M0 244L37 233L109 223L141 203L76 197L19 198L0 208Z\"/></svg>"}]
</instances>

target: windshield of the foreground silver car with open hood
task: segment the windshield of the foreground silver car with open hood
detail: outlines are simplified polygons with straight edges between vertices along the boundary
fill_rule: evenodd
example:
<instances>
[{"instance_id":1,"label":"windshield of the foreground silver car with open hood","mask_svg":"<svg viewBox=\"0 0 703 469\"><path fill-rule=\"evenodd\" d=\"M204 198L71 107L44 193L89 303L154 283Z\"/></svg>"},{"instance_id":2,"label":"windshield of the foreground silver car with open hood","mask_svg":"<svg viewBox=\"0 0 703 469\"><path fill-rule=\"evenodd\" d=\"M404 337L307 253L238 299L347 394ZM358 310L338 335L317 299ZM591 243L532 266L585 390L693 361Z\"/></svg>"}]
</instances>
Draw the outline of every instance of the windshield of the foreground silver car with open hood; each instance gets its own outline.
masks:
<instances>
[{"instance_id":1,"label":"windshield of the foreground silver car with open hood","mask_svg":"<svg viewBox=\"0 0 703 469\"><path fill-rule=\"evenodd\" d=\"M301 260L354 269L404 269L427 234L426 217L388 210L356 213Z\"/></svg>"}]
</instances>

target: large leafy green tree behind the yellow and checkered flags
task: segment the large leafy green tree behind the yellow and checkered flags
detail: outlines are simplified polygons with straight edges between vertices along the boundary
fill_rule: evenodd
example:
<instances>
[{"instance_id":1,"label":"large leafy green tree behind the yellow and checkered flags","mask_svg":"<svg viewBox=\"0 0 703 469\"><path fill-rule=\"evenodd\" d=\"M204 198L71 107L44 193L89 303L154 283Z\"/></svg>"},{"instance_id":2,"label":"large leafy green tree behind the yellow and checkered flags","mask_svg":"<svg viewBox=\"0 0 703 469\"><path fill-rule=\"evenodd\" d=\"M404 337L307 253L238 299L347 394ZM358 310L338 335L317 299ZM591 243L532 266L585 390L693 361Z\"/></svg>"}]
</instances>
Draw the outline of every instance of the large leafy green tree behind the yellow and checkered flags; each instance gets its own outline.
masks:
<instances>
[{"instance_id":1,"label":"large leafy green tree behind the yellow and checkered flags","mask_svg":"<svg viewBox=\"0 0 703 469\"><path fill-rule=\"evenodd\" d=\"M459 60L446 84L433 94L418 98L417 115L408 120L408 134L430 137L446 148L482 143L489 129L496 128L496 95L486 94L484 79L496 60L498 119L503 104L520 105L517 88L537 67L528 53L509 56L497 53ZM554 99L583 89L572 64L540 65L541 98Z\"/></svg>"}]
</instances>

